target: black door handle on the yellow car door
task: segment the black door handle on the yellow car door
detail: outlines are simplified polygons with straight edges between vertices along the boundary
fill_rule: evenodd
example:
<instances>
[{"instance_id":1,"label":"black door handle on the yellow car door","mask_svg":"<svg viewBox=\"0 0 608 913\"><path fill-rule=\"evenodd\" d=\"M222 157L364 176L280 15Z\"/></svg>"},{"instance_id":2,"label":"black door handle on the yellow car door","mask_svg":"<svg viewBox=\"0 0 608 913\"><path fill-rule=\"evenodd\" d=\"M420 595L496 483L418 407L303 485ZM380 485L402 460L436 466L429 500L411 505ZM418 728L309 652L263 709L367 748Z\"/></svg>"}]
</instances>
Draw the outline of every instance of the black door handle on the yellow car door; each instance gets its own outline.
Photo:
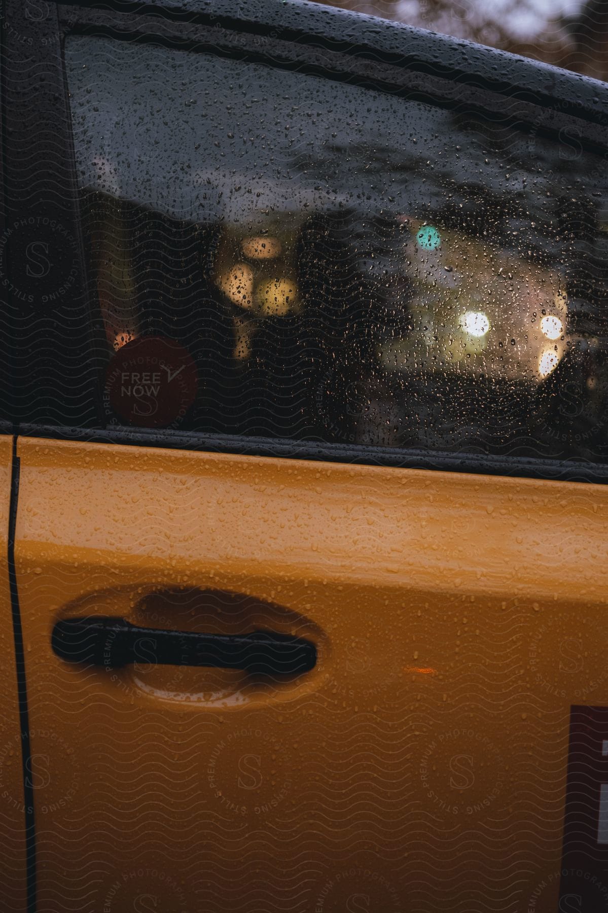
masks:
<instances>
[{"instance_id":1,"label":"black door handle on the yellow car door","mask_svg":"<svg viewBox=\"0 0 608 913\"><path fill-rule=\"evenodd\" d=\"M143 641L151 643L143 644ZM136 653L138 644L146 654ZM309 640L271 631L246 635L197 634L138 627L123 618L68 618L53 628L51 645L70 663L127 666L152 650L164 666L215 666L246 669L265 675L309 672L317 662L317 648Z\"/></svg>"}]
</instances>

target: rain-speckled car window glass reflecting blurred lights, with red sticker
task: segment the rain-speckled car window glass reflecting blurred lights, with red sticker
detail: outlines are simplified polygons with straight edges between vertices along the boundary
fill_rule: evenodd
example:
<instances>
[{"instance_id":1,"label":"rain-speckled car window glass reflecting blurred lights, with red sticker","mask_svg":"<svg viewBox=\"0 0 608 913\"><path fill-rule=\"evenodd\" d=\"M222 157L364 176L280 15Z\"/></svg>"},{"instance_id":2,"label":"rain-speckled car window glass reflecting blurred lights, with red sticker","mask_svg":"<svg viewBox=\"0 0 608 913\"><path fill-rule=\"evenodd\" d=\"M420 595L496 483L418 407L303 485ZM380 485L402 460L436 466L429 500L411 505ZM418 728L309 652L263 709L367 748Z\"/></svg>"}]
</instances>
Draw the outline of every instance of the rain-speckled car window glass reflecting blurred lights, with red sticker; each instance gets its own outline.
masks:
<instances>
[{"instance_id":1,"label":"rain-speckled car window glass reflecting blurred lights, with red sticker","mask_svg":"<svg viewBox=\"0 0 608 913\"><path fill-rule=\"evenodd\" d=\"M68 37L107 425L608 454L608 177L575 132Z\"/></svg>"}]
</instances>

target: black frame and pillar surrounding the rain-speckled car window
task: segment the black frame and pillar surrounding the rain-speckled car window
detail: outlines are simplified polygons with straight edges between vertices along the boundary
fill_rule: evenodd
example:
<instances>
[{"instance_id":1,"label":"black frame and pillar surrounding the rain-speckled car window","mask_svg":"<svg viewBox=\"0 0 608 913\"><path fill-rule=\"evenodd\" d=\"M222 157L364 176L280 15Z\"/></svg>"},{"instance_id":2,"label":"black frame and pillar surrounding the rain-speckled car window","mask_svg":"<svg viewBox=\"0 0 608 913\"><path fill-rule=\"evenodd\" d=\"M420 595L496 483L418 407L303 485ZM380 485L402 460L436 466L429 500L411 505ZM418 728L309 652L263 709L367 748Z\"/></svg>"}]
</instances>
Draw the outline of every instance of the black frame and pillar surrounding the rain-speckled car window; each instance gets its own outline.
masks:
<instances>
[{"instance_id":1,"label":"black frame and pillar surrounding the rain-speckled car window","mask_svg":"<svg viewBox=\"0 0 608 913\"><path fill-rule=\"evenodd\" d=\"M167 0L169 2L169 0ZM551 460L486 454L454 454L430 450L310 443L291 439L219 436L155 429L104 429L100 382L103 353L97 317L88 300L79 194L71 136L71 114L63 66L66 37L101 35L118 40L152 42L164 47L214 53L296 69L325 79L348 81L362 88L425 100L435 106L508 120L518 129L555 137L570 131L583 148L608 158L608 85L557 68L517 58L492 48L471 45L419 29L398 26L329 7L276 0L219 0L194 11L193 0L168 7L147 4L50 3L28 5L5 0L3 145L7 222L55 218L70 237L70 253L78 276L58 310L32 320L28 344L47 352L44 381L57 400L57 424L36 420L39 402L19 401L19 384L36 383L36 365L26 362L18 341L26 320L19 312L13 323L13 351L0 352L10 366L16 392L11 399L12 425L19 435L112 444L161 446L257 456L279 456L363 463L387 467L419 467L485 475L544 477L576 481L608 481L608 465L581 459ZM44 9L43 9L44 7ZM297 16L294 16L297 14ZM348 36L344 38L341 36ZM34 66L32 66L34 64ZM51 135L53 142L40 142ZM23 161L27 161L26 167ZM45 178L41 181L40 175ZM49 193L33 197L32 186ZM71 262L71 261L70 261ZM8 264L10 270L10 263ZM16 313L16 302L13 313ZM35 315L36 316L36 315ZM65 320L78 330L51 352L49 321ZM21 321L19 325L19 321ZM60 324L63 326L63 324ZM31 327L29 328L31 330ZM4 341L10 349L11 341ZM79 353L85 353L80 358ZM52 354L52 358L50 357ZM32 374L33 371L33 374ZM32 379L33 378L33 379ZM49 383L50 382L50 383ZM74 427L70 396L89 397L97 414ZM44 385L44 384L43 384ZM71 410L71 411L70 411ZM82 426L84 424L84 426ZM2 428L0 427L0 431Z\"/></svg>"}]
</instances>

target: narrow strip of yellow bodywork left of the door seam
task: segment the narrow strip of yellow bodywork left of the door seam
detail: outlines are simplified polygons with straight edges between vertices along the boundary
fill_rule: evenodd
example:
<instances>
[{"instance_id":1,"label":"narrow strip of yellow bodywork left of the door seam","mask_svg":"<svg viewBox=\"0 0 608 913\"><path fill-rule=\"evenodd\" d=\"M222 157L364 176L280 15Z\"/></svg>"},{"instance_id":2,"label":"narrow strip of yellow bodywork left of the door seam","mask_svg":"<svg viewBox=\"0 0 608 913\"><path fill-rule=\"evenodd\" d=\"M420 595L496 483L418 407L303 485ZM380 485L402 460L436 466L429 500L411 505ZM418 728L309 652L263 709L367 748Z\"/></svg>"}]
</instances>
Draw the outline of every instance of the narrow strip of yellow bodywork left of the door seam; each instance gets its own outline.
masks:
<instances>
[{"instance_id":1,"label":"narrow strip of yellow bodywork left of the door seam","mask_svg":"<svg viewBox=\"0 0 608 913\"><path fill-rule=\"evenodd\" d=\"M13 614L8 578L8 521L13 438L0 437L0 895L2 908L26 910L26 818Z\"/></svg>"}]
</instances>

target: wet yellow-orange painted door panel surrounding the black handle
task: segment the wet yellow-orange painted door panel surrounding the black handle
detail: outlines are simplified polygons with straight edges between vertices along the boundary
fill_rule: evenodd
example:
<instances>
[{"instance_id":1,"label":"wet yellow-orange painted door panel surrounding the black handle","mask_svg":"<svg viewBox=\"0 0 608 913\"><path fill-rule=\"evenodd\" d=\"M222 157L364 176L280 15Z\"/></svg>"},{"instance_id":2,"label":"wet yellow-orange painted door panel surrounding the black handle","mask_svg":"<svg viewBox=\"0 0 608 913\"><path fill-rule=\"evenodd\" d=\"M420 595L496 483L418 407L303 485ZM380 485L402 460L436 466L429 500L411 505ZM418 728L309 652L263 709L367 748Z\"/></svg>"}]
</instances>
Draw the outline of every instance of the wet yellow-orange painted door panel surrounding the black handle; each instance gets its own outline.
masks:
<instances>
[{"instance_id":1,"label":"wet yellow-orange painted door panel surrounding the black handle","mask_svg":"<svg viewBox=\"0 0 608 913\"><path fill-rule=\"evenodd\" d=\"M570 707L608 705L608 488L18 453L45 913L554 913ZM319 663L85 669L50 647L82 614L293 631Z\"/></svg>"}]
</instances>

